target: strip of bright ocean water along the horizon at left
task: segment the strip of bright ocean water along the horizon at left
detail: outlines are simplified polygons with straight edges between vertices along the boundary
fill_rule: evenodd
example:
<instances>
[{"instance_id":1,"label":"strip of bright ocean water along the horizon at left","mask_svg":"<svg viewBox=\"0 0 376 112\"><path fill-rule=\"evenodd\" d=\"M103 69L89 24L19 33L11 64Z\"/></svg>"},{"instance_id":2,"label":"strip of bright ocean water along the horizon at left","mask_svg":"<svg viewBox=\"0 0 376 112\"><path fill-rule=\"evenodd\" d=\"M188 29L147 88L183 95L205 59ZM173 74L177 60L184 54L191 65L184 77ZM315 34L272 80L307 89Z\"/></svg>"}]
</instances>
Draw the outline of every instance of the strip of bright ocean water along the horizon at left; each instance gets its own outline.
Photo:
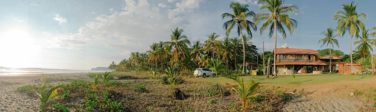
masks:
<instances>
[{"instance_id":1,"label":"strip of bright ocean water along the horizon at left","mask_svg":"<svg viewBox=\"0 0 376 112\"><path fill-rule=\"evenodd\" d=\"M106 71L0 67L0 75L25 74L25 73L85 73L85 72L89 73L89 72L106 72Z\"/></svg>"}]
</instances>

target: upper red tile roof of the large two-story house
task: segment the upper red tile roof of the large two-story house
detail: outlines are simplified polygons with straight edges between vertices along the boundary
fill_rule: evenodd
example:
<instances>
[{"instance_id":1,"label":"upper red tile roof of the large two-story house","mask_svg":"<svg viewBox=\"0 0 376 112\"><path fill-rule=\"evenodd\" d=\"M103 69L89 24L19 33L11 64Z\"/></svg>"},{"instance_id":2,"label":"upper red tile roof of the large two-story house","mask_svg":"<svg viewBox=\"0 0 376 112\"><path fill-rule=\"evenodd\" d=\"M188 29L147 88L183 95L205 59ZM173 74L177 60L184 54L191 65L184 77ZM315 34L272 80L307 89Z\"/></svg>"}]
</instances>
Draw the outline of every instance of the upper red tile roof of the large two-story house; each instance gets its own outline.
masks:
<instances>
[{"instance_id":1,"label":"upper red tile roof of the large two-story house","mask_svg":"<svg viewBox=\"0 0 376 112\"><path fill-rule=\"evenodd\" d=\"M277 54L320 54L314 49L277 48Z\"/></svg>"}]
</instances>

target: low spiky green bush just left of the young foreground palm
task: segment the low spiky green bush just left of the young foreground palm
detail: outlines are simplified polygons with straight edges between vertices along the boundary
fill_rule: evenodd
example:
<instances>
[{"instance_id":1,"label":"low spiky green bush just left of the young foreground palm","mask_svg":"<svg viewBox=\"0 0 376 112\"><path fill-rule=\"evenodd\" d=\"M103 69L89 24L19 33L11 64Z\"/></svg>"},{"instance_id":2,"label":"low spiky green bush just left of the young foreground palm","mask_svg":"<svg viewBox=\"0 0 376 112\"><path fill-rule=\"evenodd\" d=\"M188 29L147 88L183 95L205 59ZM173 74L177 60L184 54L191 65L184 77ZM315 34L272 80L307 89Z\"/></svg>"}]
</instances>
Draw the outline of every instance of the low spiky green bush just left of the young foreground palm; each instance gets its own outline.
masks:
<instances>
[{"instance_id":1,"label":"low spiky green bush just left of the young foreground palm","mask_svg":"<svg viewBox=\"0 0 376 112\"><path fill-rule=\"evenodd\" d=\"M211 84L208 87L204 87L200 92L202 96L212 97L212 96L227 96L230 92L219 83Z\"/></svg>"}]
</instances>

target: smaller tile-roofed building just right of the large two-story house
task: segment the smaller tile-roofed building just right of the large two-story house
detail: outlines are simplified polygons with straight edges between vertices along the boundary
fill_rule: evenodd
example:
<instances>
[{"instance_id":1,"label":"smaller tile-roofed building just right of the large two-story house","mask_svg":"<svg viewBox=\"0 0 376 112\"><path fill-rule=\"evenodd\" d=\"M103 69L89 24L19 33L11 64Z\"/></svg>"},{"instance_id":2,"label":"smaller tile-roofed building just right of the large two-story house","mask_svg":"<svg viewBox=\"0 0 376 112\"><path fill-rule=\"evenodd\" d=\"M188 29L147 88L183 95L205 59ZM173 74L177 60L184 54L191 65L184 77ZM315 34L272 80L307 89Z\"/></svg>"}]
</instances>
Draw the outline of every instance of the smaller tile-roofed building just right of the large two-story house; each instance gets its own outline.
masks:
<instances>
[{"instance_id":1,"label":"smaller tile-roofed building just right of the large two-story house","mask_svg":"<svg viewBox=\"0 0 376 112\"><path fill-rule=\"evenodd\" d=\"M332 65L330 65L332 59ZM332 67L332 72L338 72L338 63L342 60L340 57L332 56L332 55L326 55L324 57L320 57L321 62L327 64L324 66L323 70L324 72L329 72L329 67Z\"/></svg>"}]
</instances>

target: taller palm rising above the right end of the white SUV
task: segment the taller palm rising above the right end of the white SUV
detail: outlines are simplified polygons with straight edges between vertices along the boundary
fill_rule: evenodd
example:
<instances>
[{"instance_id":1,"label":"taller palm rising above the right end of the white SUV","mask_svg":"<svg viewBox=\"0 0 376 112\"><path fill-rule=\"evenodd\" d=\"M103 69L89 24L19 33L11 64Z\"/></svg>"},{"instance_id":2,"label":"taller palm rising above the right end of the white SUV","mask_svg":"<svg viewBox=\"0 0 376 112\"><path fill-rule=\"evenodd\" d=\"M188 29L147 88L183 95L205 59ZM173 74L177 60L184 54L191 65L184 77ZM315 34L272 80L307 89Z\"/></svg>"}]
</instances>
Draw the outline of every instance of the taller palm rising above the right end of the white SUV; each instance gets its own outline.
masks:
<instances>
[{"instance_id":1,"label":"taller palm rising above the right end of the white SUV","mask_svg":"<svg viewBox=\"0 0 376 112\"><path fill-rule=\"evenodd\" d=\"M216 40L220 35L217 33L211 33L208 34L207 37L209 38L208 40L205 41L204 46L205 46L205 51L209 52L211 50L212 52L212 59L214 60L214 52L219 51L219 47L221 45L221 42L219 40Z\"/></svg>"}]
</instances>

